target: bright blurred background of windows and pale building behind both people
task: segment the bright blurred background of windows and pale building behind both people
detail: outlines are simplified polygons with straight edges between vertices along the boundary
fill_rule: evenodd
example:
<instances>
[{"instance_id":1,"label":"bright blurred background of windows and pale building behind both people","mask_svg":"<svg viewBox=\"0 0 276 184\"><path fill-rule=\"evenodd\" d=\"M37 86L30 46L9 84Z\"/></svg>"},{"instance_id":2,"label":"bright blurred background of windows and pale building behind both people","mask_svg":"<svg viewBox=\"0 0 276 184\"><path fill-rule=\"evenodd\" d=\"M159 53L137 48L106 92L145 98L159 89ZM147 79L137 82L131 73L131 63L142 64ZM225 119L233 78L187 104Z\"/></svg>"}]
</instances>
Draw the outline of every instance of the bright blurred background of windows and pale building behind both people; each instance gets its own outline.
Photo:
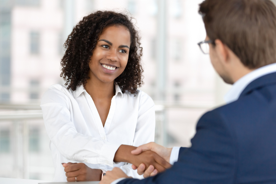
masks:
<instances>
[{"instance_id":1,"label":"bright blurred background of windows and pale building behind both people","mask_svg":"<svg viewBox=\"0 0 276 184\"><path fill-rule=\"evenodd\" d=\"M231 86L197 43L202 0L0 0L0 177L53 179L40 98L60 77L63 44L96 10L129 12L142 37L141 90L156 103L156 142L190 146L200 116Z\"/></svg>"}]
</instances>

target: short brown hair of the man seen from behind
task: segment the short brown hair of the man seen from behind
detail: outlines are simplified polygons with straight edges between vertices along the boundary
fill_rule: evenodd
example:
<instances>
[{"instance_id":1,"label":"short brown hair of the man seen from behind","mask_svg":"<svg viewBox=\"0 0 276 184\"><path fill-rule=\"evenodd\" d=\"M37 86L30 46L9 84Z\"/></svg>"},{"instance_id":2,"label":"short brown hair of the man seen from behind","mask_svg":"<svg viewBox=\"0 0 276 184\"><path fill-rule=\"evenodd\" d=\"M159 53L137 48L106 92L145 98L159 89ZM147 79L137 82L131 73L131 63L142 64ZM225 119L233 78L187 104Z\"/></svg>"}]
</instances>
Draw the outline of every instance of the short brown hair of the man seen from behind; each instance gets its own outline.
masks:
<instances>
[{"instance_id":1,"label":"short brown hair of the man seen from behind","mask_svg":"<svg viewBox=\"0 0 276 184\"><path fill-rule=\"evenodd\" d=\"M207 36L220 39L249 69L276 62L276 7L270 0L205 0Z\"/></svg>"}]
</instances>

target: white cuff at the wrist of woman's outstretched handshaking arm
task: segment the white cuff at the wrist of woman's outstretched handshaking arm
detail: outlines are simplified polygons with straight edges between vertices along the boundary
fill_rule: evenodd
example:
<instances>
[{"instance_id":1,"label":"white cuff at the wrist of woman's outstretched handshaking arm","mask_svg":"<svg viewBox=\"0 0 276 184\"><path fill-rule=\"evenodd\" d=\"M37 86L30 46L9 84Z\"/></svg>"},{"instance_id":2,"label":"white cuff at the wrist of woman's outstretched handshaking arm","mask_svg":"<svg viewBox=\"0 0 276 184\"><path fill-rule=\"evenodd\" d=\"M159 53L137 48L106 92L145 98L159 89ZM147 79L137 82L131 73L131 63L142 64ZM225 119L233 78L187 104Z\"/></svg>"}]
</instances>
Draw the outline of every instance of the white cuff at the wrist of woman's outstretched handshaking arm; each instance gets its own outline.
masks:
<instances>
[{"instance_id":1,"label":"white cuff at the wrist of woman's outstretched handshaking arm","mask_svg":"<svg viewBox=\"0 0 276 184\"><path fill-rule=\"evenodd\" d=\"M119 147L120 145L118 144L105 142L105 144L102 146L100 151L100 156L99 156L100 163L113 167L113 164L114 164L113 159Z\"/></svg>"}]
</instances>

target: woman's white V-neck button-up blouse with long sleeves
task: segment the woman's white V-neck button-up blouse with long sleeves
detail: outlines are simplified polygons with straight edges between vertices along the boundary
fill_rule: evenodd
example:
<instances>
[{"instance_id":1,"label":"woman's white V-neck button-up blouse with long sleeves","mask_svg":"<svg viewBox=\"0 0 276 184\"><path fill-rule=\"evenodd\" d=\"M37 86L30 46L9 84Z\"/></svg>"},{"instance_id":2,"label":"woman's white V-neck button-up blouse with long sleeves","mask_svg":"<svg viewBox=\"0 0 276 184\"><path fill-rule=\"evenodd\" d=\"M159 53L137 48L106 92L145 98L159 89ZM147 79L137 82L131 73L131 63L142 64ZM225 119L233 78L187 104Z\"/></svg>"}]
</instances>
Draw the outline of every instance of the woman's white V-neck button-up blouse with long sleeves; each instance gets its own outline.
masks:
<instances>
[{"instance_id":1,"label":"woman's white V-neck button-up blouse with long sleeves","mask_svg":"<svg viewBox=\"0 0 276 184\"><path fill-rule=\"evenodd\" d=\"M125 162L114 163L120 145L139 146L154 141L153 100L137 90L136 96L122 93L115 84L115 96L103 127L91 96L83 85L75 91L59 84L43 95L41 108L55 167L54 181L66 181L61 163L83 162L93 169L120 167L128 176L143 178Z\"/></svg>"}]
</instances>

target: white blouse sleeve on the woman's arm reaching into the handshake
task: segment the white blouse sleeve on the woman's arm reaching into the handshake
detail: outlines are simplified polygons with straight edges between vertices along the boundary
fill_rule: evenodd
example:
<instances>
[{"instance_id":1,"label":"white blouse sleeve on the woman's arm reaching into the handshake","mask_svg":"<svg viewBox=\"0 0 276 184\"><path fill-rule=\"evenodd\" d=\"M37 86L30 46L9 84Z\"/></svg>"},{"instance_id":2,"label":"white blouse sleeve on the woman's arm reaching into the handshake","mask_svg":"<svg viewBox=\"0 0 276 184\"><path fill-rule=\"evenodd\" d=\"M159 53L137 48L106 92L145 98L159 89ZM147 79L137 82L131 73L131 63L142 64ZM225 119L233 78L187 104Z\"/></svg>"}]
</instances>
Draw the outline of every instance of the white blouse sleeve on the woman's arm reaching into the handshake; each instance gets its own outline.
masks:
<instances>
[{"instance_id":1,"label":"white blouse sleeve on the woman's arm reaching into the handshake","mask_svg":"<svg viewBox=\"0 0 276 184\"><path fill-rule=\"evenodd\" d=\"M113 167L114 155L120 145L78 133L71 121L71 101L67 93L62 86L54 85L41 100L43 119L51 142L68 160Z\"/></svg>"}]
</instances>

